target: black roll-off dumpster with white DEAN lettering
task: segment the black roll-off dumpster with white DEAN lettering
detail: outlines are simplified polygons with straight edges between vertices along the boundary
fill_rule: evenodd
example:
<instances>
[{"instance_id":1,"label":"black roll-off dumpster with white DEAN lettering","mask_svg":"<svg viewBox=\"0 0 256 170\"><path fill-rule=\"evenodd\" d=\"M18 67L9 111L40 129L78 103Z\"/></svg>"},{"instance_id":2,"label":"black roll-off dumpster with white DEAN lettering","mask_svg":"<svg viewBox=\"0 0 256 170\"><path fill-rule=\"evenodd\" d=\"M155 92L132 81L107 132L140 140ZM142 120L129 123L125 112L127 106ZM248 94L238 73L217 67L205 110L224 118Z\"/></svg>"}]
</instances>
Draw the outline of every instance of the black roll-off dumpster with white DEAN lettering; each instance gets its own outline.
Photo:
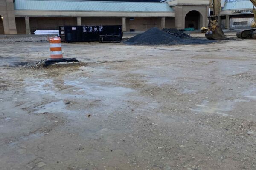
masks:
<instances>
[{"instance_id":1,"label":"black roll-off dumpster with white DEAN lettering","mask_svg":"<svg viewBox=\"0 0 256 170\"><path fill-rule=\"evenodd\" d=\"M121 42L122 26L60 26L63 42Z\"/></svg>"}]
</instances>

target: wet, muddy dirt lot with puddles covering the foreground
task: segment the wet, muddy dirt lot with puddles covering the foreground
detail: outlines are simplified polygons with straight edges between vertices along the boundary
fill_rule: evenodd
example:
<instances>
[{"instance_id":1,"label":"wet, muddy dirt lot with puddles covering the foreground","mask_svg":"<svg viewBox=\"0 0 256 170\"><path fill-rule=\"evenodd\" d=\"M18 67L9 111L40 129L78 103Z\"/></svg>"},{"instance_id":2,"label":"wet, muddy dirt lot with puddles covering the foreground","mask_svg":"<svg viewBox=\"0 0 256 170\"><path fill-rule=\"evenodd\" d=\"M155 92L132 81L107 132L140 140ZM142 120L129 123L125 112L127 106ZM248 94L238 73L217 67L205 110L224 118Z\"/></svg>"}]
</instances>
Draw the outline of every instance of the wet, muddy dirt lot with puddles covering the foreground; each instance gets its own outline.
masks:
<instances>
[{"instance_id":1,"label":"wet, muddy dirt lot with puddles covering the foreground","mask_svg":"<svg viewBox=\"0 0 256 170\"><path fill-rule=\"evenodd\" d=\"M0 38L1 170L256 170L256 40L62 44ZM202 34L193 34L202 37Z\"/></svg>"}]
</instances>

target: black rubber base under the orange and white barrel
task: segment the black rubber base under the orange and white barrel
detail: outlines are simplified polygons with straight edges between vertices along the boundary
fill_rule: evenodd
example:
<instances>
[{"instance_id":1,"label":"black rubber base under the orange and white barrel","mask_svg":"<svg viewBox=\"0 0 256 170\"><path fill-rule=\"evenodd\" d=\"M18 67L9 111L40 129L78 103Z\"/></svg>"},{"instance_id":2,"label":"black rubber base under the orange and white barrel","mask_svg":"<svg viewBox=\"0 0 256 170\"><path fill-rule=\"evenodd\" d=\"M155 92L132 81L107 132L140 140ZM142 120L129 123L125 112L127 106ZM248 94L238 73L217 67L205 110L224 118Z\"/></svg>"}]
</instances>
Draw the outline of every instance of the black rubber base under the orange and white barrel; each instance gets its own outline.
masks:
<instances>
[{"instance_id":1,"label":"black rubber base under the orange and white barrel","mask_svg":"<svg viewBox=\"0 0 256 170\"><path fill-rule=\"evenodd\" d=\"M49 65L79 65L79 61L75 58L62 58L62 59L44 59L44 67Z\"/></svg>"}]
</instances>

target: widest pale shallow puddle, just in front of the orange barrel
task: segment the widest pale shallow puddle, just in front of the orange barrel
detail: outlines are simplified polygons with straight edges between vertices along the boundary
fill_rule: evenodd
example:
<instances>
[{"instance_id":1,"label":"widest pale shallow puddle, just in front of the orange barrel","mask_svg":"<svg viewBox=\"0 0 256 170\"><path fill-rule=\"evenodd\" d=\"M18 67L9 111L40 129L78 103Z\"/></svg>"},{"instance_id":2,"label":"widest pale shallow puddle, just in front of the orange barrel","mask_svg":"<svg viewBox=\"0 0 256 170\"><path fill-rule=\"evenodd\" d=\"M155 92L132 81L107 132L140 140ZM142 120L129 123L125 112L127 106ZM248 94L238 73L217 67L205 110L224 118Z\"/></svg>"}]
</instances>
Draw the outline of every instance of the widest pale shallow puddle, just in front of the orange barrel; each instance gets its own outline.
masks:
<instances>
[{"instance_id":1,"label":"widest pale shallow puddle, just in front of the orange barrel","mask_svg":"<svg viewBox=\"0 0 256 170\"><path fill-rule=\"evenodd\" d=\"M61 91L67 90L67 88L77 91L84 91L89 96L99 96L105 98L124 96L127 93L133 92L133 89L111 86L111 85L98 85L86 81L88 77L84 77L80 80L56 80L56 79L25 79L26 91L38 92L41 94L47 94L56 96L57 98L63 99L63 97L79 97L84 94L63 94ZM82 80L82 81L81 81ZM102 80L103 81L103 80ZM63 86L63 88L61 88ZM67 87L69 86L69 87Z\"/></svg>"}]
</instances>

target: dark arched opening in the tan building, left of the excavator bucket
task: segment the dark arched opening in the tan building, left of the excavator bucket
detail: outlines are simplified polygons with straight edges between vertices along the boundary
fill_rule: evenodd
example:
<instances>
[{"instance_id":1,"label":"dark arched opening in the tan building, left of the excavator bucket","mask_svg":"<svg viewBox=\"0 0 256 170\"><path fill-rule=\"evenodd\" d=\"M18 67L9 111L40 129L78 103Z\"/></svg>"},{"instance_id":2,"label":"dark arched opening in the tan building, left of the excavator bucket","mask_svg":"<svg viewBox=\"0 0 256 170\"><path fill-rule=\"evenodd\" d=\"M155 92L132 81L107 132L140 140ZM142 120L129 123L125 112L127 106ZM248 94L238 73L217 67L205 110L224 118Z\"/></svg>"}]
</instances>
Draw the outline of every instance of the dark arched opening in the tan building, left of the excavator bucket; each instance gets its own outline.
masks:
<instances>
[{"instance_id":1,"label":"dark arched opening in the tan building, left of the excavator bucket","mask_svg":"<svg viewBox=\"0 0 256 170\"><path fill-rule=\"evenodd\" d=\"M198 11L190 11L185 17L185 28L199 30L201 28L202 18L202 15Z\"/></svg>"}]
</instances>

